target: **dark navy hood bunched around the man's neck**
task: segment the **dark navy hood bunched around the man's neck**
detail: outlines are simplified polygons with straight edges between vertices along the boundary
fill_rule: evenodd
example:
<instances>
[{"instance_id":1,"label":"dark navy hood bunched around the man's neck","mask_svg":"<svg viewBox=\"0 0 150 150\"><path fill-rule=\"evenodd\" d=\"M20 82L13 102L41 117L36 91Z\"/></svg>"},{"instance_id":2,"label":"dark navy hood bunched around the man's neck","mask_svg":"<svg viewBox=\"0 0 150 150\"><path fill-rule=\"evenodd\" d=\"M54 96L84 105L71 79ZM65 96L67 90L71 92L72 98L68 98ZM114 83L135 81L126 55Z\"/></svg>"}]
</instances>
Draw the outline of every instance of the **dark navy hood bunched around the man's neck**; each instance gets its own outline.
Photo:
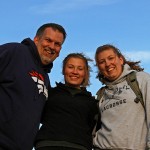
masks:
<instances>
[{"instance_id":1,"label":"dark navy hood bunched around the man's neck","mask_svg":"<svg viewBox=\"0 0 150 150\"><path fill-rule=\"evenodd\" d=\"M34 62L37 65L41 66L46 73L50 73L50 71L53 67L53 63L50 63L48 65L42 64L41 58L40 58L40 55L38 53L38 49L37 49L35 43L30 38L24 39L21 43L26 45L29 48L29 50L33 56Z\"/></svg>"}]
</instances>

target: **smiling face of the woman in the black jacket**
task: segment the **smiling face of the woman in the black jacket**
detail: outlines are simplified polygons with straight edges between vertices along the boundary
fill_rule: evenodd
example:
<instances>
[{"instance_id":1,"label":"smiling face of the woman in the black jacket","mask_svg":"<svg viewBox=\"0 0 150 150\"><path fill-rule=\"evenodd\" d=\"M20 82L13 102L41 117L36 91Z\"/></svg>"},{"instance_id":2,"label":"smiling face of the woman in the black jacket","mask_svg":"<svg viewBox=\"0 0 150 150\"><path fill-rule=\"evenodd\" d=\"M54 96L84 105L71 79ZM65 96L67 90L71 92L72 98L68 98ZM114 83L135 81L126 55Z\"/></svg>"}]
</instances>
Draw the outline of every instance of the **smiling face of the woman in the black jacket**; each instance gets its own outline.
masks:
<instances>
[{"instance_id":1,"label":"smiling face of the woman in the black jacket","mask_svg":"<svg viewBox=\"0 0 150 150\"><path fill-rule=\"evenodd\" d=\"M69 58L64 68L65 84L80 88L86 78L86 65L80 58Z\"/></svg>"}]
</instances>

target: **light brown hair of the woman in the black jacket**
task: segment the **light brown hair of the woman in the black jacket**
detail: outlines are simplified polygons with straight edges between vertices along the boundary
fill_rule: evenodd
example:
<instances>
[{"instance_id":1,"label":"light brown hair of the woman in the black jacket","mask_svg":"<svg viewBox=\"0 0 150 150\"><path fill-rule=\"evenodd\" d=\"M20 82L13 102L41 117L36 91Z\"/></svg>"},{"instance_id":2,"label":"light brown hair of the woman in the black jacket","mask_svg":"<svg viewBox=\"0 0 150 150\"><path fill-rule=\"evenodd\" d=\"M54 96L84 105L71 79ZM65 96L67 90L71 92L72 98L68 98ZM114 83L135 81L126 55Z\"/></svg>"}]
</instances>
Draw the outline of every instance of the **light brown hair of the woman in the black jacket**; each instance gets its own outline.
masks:
<instances>
[{"instance_id":1,"label":"light brown hair of the woman in the black jacket","mask_svg":"<svg viewBox=\"0 0 150 150\"><path fill-rule=\"evenodd\" d=\"M89 80L90 72L92 72L89 62L92 62L93 60L86 57L83 53L70 53L63 60L63 65L62 65L62 73L63 74L65 71L66 64L70 58L80 58L80 59L84 60L85 66L86 66L86 76L85 76L85 79L84 79L83 83L81 84L81 86L82 87L89 86L90 85L90 80Z\"/></svg>"}]
</instances>

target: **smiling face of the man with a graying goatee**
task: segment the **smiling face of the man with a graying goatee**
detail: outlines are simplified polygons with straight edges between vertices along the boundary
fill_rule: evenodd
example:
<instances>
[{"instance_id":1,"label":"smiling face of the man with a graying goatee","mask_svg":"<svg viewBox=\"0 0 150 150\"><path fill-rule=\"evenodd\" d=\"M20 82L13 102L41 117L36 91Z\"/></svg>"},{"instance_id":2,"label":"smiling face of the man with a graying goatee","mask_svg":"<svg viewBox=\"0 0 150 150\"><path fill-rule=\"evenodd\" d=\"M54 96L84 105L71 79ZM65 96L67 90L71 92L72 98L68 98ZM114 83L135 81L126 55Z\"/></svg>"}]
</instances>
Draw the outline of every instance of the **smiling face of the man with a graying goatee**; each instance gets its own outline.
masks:
<instances>
[{"instance_id":1,"label":"smiling face of the man with a graying goatee","mask_svg":"<svg viewBox=\"0 0 150 150\"><path fill-rule=\"evenodd\" d=\"M63 41L63 34L51 27L46 28L42 36L34 38L43 65L50 64L59 56Z\"/></svg>"}]
</instances>

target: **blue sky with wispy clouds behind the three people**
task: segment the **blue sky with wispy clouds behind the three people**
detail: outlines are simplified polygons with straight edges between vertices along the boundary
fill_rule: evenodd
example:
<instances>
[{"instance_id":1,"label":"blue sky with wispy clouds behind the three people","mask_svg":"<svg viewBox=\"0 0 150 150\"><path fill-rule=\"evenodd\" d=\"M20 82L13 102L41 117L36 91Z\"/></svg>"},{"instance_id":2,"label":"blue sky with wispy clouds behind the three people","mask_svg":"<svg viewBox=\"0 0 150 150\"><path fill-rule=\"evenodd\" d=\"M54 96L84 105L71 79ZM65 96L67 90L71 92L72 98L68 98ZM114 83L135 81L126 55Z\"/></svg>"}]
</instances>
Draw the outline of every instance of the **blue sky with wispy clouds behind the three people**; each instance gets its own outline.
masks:
<instances>
[{"instance_id":1,"label":"blue sky with wispy clouds behind the three people","mask_svg":"<svg viewBox=\"0 0 150 150\"><path fill-rule=\"evenodd\" d=\"M150 0L1 0L0 44L33 39L39 26L59 23L67 39L50 74L51 84L63 81L62 59L71 52L83 52L94 58L103 44L117 46L130 60L140 60L150 73ZM88 88L93 95L101 87L95 78Z\"/></svg>"}]
</instances>

